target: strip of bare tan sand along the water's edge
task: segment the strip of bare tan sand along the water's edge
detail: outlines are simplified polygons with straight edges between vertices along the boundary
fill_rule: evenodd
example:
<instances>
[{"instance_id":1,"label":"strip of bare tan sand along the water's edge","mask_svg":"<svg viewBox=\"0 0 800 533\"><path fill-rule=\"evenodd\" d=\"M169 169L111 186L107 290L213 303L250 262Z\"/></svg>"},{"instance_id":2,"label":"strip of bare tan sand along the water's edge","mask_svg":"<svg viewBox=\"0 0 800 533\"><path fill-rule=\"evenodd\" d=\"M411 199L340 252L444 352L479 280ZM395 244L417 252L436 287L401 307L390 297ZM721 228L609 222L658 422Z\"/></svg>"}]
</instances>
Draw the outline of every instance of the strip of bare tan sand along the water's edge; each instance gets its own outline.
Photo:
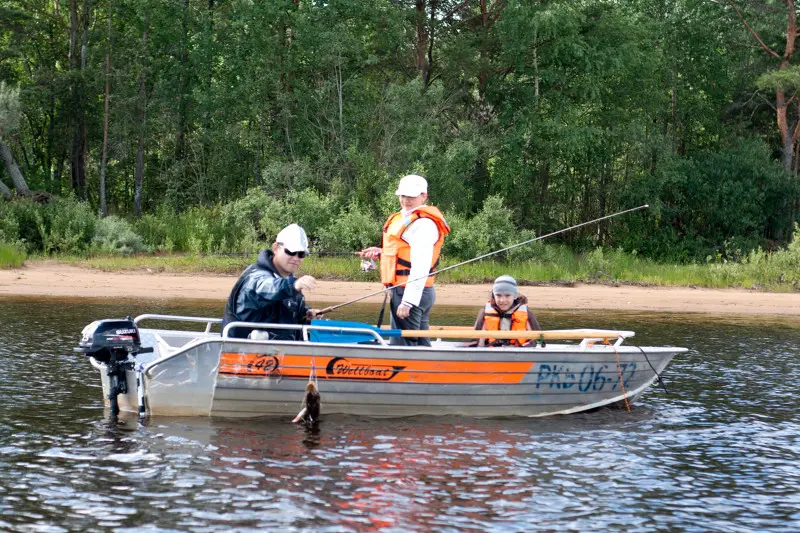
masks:
<instances>
[{"instance_id":1,"label":"strip of bare tan sand along the water's edge","mask_svg":"<svg viewBox=\"0 0 800 533\"><path fill-rule=\"evenodd\" d=\"M129 297L143 299L220 300L236 282L222 274L104 272L54 260L28 261L21 268L0 270L0 298L50 296L71 298ZM349 302L377 292L377 283L318 281L308 296L312 307ZM436 284L439 305L479 307L491 284ZM800 293L771 293L744 289L639 287L576 284L522 286L534 309L661 311L716 315L779 315L800 317ZM379 304L383 295L363 303Z\"/></svg>"}]
</instances>

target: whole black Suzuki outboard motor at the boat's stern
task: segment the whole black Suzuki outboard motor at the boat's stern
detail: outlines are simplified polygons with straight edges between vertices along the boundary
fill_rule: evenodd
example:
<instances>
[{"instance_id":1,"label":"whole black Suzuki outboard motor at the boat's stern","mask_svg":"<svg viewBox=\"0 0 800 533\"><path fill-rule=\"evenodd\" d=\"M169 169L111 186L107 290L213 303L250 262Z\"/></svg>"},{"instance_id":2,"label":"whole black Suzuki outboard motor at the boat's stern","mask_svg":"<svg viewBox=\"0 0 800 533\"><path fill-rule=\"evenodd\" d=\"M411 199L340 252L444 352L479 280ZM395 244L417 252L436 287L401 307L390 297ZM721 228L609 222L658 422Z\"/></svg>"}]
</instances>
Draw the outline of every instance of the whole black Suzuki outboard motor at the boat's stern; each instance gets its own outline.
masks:
<instances>
[{"instance_id":1,"label":"whole black Suzuki outboard motor at the boat's stern","mask_svg":"<svg viewBox=\"0 0 800 533\"><path fill-rule=\"evenodd\" d=\"M117 396L128 393L126 371L133 370L133 358L139 353L152 352L153 348L142 348L139 328L133 318L126 317L95 320L83 328L75 351L106 365L108 399L111 413L116 415L119 413Z\"/></svg>"}]
</instances>

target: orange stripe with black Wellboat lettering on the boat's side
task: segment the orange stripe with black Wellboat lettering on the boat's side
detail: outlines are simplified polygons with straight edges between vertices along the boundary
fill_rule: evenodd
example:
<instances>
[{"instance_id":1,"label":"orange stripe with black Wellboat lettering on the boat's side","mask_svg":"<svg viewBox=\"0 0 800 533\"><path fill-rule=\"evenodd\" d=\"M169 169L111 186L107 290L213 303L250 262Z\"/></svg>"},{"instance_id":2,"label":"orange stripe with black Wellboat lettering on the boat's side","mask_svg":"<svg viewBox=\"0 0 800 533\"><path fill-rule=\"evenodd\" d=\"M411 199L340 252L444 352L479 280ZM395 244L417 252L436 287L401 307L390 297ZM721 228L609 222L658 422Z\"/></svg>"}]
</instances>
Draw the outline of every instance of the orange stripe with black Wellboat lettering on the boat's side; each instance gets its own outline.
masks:
<instances>
[{"instance_id":1,"label":"orange stripe with black Wellboat lettering on the boat's side","mask_svg":"<svg viewBox=\"0 0 800 533\"><path fill-rule=\"evenodd\" d=\"M519 383L535 363L426 361L316 356L319 379L392 383ZM310 355L223 352L219 373L237 377L308 379Z\"/></svg>"}]
</instances>

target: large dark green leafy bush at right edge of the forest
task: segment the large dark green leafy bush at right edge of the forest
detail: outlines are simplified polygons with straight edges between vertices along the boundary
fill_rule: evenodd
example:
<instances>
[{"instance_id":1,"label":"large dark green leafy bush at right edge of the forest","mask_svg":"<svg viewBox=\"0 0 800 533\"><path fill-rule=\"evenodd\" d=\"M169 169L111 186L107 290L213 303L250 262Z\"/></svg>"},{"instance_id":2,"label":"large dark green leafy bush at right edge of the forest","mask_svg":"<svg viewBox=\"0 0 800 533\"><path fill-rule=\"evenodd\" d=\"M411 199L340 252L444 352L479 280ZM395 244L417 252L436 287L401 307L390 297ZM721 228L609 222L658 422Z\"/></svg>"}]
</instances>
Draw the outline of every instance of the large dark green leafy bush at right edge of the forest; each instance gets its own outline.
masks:
<instances>
[{"instance_id":1,"label":"large dark green leafy bush at right edge of the forest","mask_svg":"<svg viewBox=\"0 0 800 533\"><path fill-rule=\"evenodd\" d=\"M791 227L795 180L759 139L721 150L665 157L653 174L626 182L623 205L648 203L615 231L626 250L690 262L717 254L738 260Z\"/></svg>"}]
</instances>

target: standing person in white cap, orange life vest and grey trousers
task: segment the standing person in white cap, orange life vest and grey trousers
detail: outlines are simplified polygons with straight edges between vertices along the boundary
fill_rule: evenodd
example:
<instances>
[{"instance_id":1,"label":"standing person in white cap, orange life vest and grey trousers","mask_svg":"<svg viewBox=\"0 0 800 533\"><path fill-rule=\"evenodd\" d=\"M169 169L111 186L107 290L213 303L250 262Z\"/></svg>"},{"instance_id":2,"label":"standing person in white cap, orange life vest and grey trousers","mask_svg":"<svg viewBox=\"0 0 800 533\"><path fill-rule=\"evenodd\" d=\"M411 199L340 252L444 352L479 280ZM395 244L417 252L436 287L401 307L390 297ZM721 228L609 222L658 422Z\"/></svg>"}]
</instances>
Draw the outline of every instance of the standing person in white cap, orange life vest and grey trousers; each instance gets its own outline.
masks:
<instances>
[{"instance_id":1,"label":"standing person in white cap, orange life vest and grey trousers","mask_svg":"<svg viewBox=\"0 0 800 533\"><path fill-rule=\"evenodd\" d=\"M394 287L390 309L392 327L399 329L429 329L431 308L436 301L433 288L436 276L429 276L439 264L445 235L450 227L438 208L425 205L428 201L428 182L422 176L409 174L400 180L395 191L400 211L391 215L383 226L381 247L373 246L359 252L361 257L381 261L381 283ZM430 346L427 338L397 337L392 344Z\"/></svg>"}]
</instances>

